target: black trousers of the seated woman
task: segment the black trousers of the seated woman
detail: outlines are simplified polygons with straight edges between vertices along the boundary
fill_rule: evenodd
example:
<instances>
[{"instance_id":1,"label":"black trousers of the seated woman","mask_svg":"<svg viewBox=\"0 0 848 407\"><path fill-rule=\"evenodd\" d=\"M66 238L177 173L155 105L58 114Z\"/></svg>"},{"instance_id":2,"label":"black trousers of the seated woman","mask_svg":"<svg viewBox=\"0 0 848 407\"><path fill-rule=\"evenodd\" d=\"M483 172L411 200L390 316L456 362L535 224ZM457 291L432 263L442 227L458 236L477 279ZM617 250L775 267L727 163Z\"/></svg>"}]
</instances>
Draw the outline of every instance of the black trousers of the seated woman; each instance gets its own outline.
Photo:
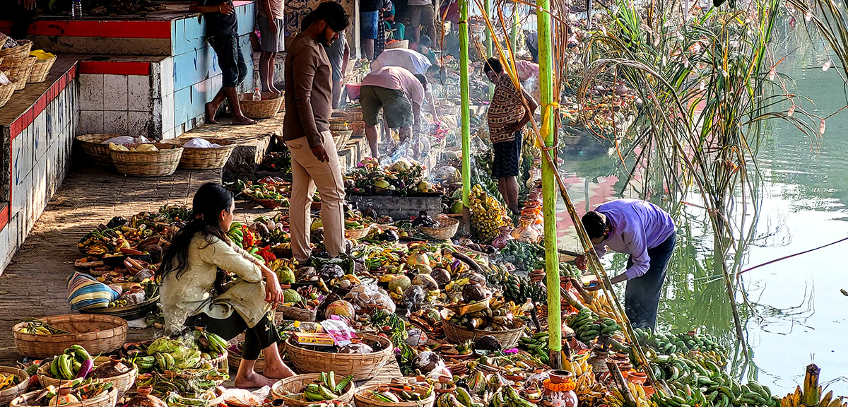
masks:
<instances>
[{"instance_id":1,"label":"black trousers of the seated woman","mask_svg":"<svg viewBox=\"0 0 848 407\"><path fill-rule=\"evenodd\" d=\"M205 325L206 331L218 335L225 341L230 341L233 337L237 337L239 333L244 332L243 360L257 360L262 349L280 342L280 335L276 332L274 324L268 319L268 314L263 316L252 328L248 327L248 323L236 311L232 311L232 315L226 320L218 320L206 314L188 317L186 326L195 325Z\"/></svg>"}]
</instances>

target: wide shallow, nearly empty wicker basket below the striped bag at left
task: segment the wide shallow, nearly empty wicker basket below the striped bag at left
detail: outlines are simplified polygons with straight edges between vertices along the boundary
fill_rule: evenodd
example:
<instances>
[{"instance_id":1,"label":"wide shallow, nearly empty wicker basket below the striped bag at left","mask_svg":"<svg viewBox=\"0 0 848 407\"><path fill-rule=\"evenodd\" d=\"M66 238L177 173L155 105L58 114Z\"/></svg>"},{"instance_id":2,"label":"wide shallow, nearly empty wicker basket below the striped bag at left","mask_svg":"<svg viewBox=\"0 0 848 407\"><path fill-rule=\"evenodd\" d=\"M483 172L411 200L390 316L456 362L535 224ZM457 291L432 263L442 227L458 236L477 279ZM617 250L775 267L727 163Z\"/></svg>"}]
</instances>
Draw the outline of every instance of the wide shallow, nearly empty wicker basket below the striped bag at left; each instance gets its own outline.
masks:
<instances>
[{"instance_id":1,"label":"wide shallow, nearly empty wicker basket below the striped bag at left","mask_svg":"<svg viewBox=\"0 0 848 407\"><path fill-rule=\"evenodd\" d=\"M120 349L126 342L126 320L109 315L66 314L39 318L59 329L72 332L64 335L36 335L24 333L26 322L12 327L14 344L21 356L47 358L61 354L70 345L77 344L91 354L105 354Z\"/></svg>"}]
</instances>

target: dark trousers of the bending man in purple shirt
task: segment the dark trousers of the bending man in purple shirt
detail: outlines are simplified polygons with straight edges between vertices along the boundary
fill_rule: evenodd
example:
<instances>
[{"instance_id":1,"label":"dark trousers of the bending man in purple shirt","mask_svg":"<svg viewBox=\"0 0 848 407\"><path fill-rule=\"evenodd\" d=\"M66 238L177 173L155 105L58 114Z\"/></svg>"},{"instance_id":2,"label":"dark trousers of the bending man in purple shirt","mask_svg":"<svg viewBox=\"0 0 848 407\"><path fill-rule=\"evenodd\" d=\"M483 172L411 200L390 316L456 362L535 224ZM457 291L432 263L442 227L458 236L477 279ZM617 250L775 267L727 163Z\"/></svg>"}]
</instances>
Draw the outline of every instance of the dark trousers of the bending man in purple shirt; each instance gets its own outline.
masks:
<instances>
[{"instance_id":1,"label":"dark trousers of the bending man in purple shirt","mask_svg":"<svg viewBox=\"0 0 848 407\"><path fill-rule=\"evenodd\" d=\"M644 275L628 280L624 290L624 312L634 328L656 329L656 310L660 306L662 282L666 280L668 260L674 253L677 235L672 234L656 248L648 249L650 266ZM633 256L628 259L628 269L633 265Z\"/></svg>"}]
</instances>

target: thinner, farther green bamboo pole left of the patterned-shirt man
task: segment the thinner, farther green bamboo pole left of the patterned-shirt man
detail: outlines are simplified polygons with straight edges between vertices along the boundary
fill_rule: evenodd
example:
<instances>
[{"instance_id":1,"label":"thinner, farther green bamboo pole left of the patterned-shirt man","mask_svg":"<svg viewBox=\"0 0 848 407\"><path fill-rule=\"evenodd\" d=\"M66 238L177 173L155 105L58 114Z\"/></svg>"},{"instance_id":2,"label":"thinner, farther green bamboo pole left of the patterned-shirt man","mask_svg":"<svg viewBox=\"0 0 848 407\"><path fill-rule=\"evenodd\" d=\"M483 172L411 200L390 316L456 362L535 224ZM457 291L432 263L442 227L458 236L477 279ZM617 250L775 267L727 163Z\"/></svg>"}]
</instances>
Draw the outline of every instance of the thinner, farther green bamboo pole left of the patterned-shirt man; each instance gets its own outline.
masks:
<instances>
[{"instance_id":1,"label":"thinner, farther green bamboo pole left of the patterned-shirt man","mask_svg":"<svg viewBox=\"0 0 848 407\"><path fill-rule=\"evenodd\" d=\"M460 94L462 121L462 205L465 229L468 228L468 209L471 203L468 194L471 193L471 120L470 99L468 96L468 0L460 0Z\"/></svg>"}]
</instances>

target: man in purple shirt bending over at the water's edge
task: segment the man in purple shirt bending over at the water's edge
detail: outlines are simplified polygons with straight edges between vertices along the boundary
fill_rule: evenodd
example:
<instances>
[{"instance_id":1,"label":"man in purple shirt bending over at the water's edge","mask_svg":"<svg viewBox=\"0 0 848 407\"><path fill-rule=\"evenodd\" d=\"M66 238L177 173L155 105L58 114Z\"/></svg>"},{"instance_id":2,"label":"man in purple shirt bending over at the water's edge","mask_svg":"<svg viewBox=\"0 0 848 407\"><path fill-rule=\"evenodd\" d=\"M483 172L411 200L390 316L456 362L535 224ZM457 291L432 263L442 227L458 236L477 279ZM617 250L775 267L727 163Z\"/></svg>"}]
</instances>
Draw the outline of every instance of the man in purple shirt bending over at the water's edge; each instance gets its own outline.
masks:
<instances>
[{"instance_id":1,"label":"man in purple shirt bending over at the water's edge","mask_svg":"<svg viewBox=\"0 0 848 407\"><path fill-rule=\"evenodd\" d=\"M610 282L628 282L624 310L633 327L655 329L662 282L677 241L672 217L650 202L618 199L587 212L582 222L598 257L607 248L630 254L628 270ZM585 270L586 256L577 257L575 263ZM600 289L600 284L590 289Z\"/></svg>"}]
</instances>

